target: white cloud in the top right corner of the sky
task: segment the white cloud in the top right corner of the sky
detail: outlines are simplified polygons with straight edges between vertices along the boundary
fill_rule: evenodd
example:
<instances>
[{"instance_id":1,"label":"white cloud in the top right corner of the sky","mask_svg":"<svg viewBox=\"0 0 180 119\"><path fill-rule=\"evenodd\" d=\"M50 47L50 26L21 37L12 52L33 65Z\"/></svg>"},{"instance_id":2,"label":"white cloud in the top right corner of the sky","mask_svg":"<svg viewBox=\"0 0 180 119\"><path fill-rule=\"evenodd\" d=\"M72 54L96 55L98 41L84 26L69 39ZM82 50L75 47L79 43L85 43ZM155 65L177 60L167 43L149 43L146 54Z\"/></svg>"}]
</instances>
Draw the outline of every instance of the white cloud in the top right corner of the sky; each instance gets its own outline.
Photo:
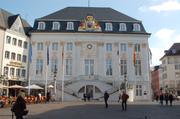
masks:
<instances>
[{"instance_id":1,"label":"white cloud in the top right corner of the sky","mask_svg":"<svg viewBox=\"0 0 180 119\"><path fill-rule=\"evenodd\" d=\"M168 0L162 4L150 6L149 10L156 12L177 11L180 10L180 3L177 0Z\"/></svg>"}]
</instances>

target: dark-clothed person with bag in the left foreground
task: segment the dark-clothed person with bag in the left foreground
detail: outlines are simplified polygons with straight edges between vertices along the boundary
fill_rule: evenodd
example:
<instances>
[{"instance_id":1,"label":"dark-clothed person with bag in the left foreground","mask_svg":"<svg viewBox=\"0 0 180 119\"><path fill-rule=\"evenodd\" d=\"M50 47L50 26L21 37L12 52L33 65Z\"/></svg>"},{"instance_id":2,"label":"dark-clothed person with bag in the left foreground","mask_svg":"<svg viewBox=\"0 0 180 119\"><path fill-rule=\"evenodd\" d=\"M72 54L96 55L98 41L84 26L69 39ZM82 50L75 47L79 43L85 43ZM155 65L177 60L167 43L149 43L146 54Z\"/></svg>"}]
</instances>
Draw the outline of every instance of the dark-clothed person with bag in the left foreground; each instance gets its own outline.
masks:
<instances>
[{"instance_id":1,"label":"dark-clothed person with bag in the left foreground","mask_svg":"<svg viewBox=\"0 0 180 119\"><path fill-rule=\"evenodd\" d=\"M27 115L28 110L26 110L26 101L22 96L17 97L12 110L15 113L16 119L23 119L23 115Z\"/></svg>"}]
</instances>

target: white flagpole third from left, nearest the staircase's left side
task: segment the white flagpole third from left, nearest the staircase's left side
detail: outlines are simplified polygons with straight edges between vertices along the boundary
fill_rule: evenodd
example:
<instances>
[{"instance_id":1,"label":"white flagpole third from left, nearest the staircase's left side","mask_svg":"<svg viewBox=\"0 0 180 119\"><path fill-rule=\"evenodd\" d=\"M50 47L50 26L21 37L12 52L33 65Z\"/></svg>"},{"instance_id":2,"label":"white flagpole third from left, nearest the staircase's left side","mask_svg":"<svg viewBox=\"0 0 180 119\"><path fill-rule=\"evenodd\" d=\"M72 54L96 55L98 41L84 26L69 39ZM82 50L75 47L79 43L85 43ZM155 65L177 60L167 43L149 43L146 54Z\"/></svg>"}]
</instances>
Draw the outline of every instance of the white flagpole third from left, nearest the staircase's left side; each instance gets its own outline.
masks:
<instances>
[{"instance_id":1,"label":"white flagpole third from left, nearest the staircase's left side","mask_svg":"<svg viewBox=\"0 0 180 119\"><path fill-rule=\"evenodd\" d=\"M63 74L62 74L62 81L61 81L62 82L62 84L61 84L62 85L61 86L62 87L62 90L61 90L62 100L61 101L63 102L64 101L64 45L62 46L62 68L63 68L62 69Z\"/></svg>"}]
</instances>

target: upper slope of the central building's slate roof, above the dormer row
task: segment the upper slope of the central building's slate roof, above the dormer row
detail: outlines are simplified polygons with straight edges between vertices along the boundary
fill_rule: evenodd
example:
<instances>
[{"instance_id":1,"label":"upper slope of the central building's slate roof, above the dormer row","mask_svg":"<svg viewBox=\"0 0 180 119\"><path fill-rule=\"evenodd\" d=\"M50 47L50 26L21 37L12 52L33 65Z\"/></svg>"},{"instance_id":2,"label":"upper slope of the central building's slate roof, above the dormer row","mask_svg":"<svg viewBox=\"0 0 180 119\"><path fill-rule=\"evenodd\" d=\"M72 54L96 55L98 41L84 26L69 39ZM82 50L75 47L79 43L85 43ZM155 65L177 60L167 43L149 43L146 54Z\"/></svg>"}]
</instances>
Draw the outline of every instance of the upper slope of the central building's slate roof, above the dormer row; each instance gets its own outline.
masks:
<instances>
[{"instance_id":1,"label":"upper slope of the central building's slate roof, above the dormer row","mask_svg":"<svg viewBox=\"0 0 180 119\"><path fill-rule=\"evenodd\" d=\"M65 21L79 21L84 19L87 15L93 15L98 21L139 22L139 20L129 17L112 8L101 7L67 7L50 15L41 17L39 20L58 19Z\"/></svg>"}]
</instances>

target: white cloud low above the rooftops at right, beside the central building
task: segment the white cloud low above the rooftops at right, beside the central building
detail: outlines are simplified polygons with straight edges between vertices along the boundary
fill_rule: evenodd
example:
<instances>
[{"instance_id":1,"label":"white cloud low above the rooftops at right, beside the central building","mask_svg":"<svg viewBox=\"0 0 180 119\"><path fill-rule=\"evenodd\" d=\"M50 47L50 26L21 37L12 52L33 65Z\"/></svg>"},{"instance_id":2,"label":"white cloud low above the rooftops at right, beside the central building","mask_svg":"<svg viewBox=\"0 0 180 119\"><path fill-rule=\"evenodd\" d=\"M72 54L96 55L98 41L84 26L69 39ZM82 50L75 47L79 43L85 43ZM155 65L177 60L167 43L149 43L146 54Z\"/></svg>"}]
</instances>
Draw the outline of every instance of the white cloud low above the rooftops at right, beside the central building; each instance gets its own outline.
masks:
<instances>
[{"instance_id":1,"label":"white cloud low above the rooftops at right, beside the central building","mask_svg":"<svg viewBox=\"0 0 180 119\"><path fill-rule=\"evenodd\" d=\"M154 33L156 41L151 47L152 65L158 65L160 58L164 55L164 50L168 50L174 43L180 43L180 33L174 29L162 28Z\"/></svg>"}]
</instances>

